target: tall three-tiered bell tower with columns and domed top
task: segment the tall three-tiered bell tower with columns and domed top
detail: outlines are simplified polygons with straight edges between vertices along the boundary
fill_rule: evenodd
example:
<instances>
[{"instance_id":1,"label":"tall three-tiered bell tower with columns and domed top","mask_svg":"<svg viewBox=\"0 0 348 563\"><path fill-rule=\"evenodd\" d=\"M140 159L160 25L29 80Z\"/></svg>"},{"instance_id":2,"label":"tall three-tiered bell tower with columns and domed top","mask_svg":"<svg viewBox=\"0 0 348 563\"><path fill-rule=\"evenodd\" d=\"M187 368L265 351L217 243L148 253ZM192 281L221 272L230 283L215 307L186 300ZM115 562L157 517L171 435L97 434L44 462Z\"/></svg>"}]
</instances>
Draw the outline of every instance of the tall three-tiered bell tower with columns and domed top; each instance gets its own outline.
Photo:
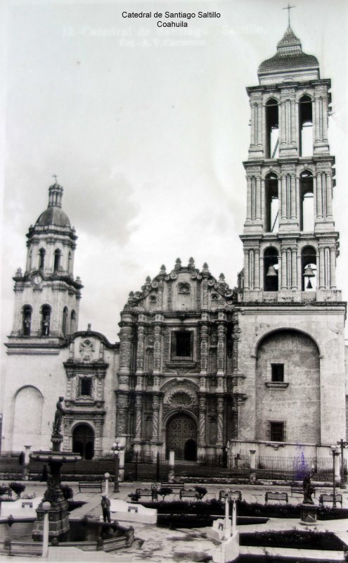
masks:
<instances>
[{"instance_id":1,"label":"tall three-tiered bell tower with columns and domed top","mask_svg":"<svg viewBox=\"0 0 348 563\"><path fill-rule=\"evenodd\" d=\"M340 301L328 144L330 80L290 24L248 87L247 217L240 301Z\"/></svg>"}]
</instances>

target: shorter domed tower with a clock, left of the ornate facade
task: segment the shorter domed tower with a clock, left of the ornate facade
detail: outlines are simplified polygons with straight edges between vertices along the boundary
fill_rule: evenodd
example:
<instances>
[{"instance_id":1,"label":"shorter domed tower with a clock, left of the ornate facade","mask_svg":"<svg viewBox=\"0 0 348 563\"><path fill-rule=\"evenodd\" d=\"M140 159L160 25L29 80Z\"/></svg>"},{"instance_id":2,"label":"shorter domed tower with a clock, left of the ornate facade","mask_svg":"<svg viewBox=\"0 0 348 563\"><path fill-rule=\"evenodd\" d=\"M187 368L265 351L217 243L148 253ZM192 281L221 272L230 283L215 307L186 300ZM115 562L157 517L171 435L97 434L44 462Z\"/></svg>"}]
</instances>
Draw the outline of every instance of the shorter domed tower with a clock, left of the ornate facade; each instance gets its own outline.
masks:
<instances>
[{"instance_id":1,"label":"shorter domed tower with a clock, left of the ornate facade","mask_svg":"<svg viewBox=\"0 0 348 563\"><path fill-rule=\"evenodd\" d=\"M74 279L77 236L62 209L63 187L49 187L49 205L27 233L27 263L15 281L10 339L64 339L77 331L82 284ZM10 344L11 346L11 344Z\"/></svg>"}]
</instances>

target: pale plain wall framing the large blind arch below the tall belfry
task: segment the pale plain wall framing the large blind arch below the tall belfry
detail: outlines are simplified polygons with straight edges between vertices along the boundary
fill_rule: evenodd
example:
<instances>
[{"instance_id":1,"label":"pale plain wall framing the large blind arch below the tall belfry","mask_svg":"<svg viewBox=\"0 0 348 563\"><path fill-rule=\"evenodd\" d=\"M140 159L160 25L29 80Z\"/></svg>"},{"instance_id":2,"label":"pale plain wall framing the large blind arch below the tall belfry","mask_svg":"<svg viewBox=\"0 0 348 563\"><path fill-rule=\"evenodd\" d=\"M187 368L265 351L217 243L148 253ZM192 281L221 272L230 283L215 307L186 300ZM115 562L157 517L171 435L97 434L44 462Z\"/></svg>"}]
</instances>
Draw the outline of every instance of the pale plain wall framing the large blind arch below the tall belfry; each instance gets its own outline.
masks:
<instances>
[{"instance_id":1,"label":"pale plain wall framing the large blind arch below the tall belfry","mask_svg":"<svg viewBox=\"0 0 348 563\"><path fill-rule=\"evenodd\" d=\"M264 337L277 329L297 330L316 342L320 353L320 443L330 445L345 436L344 304L312 304L305 308L295 304L281 307L276 303L268 307L241 306L238 322L238 370L244 376L238 380L238 392L247 395L239 409L238 439L256 439L257 355ZM281 397L286 396L286 391L281 393ZM282 404L284 400L280 399ZM293 405L291 409L286 403L283 406L282 419L297 416ZM304 441L302 431L295 441Z\"/></svg>"}]
</instances>

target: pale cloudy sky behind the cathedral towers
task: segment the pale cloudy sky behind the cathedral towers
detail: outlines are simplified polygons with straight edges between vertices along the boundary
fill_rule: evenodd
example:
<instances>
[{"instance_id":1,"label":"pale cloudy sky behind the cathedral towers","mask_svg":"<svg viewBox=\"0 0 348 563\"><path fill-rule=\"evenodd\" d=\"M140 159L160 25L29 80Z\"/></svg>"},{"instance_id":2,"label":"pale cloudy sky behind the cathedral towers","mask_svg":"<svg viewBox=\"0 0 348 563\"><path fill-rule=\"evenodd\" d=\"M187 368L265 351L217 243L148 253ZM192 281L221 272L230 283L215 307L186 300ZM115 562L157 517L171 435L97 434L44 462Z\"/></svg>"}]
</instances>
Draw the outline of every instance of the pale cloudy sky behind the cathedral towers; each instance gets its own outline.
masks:
<instances>
[{"instance_id":1,"label":"pale cloudy sky behind the cathedral towers","mask_svg":"<svg viewBox=\"0 0 348 563\"><path fill-rule=\"evenodd\" d=\"M294 4L294 3L292 3ZM79 329L118 340L129 291L165 264L207 262L233 287L243 267L250 143L245 87L288 26L283 0L4 1L1 84L1 341L15 270L53 175L77 230ZM122 11L217 11L187 28ZM187 20L186 20L187 21ZM337 286L347 299L346 0L297 0L291 25L331 78ZM4 348L4 346L2 346ZM1 349L2 358L5 351Z\"/></svg>"}]
</instances>

